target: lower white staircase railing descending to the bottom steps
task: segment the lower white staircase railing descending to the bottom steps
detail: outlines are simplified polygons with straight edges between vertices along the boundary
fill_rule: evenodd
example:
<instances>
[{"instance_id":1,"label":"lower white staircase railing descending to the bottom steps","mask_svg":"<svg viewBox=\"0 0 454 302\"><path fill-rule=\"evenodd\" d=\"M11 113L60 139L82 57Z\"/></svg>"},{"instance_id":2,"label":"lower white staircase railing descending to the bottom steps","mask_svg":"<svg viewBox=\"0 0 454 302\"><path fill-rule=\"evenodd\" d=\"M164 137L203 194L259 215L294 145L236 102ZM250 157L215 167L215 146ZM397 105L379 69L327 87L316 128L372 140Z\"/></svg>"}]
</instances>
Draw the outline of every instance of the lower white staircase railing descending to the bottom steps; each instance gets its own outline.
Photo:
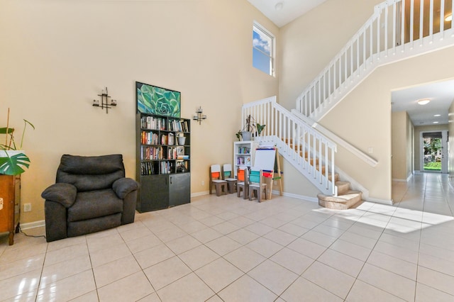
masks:
<instances>
[{"instance_id":1,"label":"lower white staircase railing descending to the bottom steps","mask_svg":"<svg viewBox=\"0 0 454 302\"><path fill-rule=\"evenodd\" d=\"M255 140L275 145L279 154L323 194L337 196L334 185L335 142L277 104L275 96L243 105L242 128L248 116L253 116L256 123L266 125Z\"/></svg>"}]
</instances>

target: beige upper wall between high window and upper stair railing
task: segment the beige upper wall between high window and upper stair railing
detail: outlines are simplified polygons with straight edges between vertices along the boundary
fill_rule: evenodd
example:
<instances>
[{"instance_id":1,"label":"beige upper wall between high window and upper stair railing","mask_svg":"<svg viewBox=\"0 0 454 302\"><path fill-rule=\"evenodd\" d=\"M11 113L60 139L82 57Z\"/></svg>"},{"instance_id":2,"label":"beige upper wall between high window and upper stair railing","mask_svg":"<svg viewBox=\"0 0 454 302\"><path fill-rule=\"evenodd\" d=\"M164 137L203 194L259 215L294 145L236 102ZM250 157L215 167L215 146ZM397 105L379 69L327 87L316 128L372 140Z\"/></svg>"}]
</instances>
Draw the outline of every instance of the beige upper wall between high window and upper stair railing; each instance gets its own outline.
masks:
<instances>
[{"instance_id":1,"label":"beige upper wall between high window and upper stair railing","mask_svg":"<svg viewBox=\"0 0 454 302\"><path fill-rule=\"evenodd\" d=\"M328 0L282 27L278 58L279 104L295 108L297 96L367 21L382 0Z\"/></svg>"}]
</instances>

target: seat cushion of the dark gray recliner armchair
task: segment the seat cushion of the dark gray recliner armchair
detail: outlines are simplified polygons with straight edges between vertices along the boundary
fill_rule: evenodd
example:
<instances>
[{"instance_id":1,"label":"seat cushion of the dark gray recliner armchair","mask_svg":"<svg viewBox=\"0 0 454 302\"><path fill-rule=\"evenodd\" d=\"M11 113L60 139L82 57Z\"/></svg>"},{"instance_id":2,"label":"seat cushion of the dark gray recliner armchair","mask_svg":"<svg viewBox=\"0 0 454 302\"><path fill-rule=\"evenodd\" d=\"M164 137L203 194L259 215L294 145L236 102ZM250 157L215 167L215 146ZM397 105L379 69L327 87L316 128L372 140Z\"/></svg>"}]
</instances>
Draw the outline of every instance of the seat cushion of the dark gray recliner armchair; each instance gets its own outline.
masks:
<instances>
[{"instance_id":1,"label":"seat cushion of the dark gray recliner armchair","mask_svg":"<svg viewBox=\"0 0 454 302\"><path fill-rule=\"evenodd\" d=\"M109 216L123 211L123 199L112 189L79 192L72 207L68 208L68 221L87 220Z\"/></svg>"}]
</instances>

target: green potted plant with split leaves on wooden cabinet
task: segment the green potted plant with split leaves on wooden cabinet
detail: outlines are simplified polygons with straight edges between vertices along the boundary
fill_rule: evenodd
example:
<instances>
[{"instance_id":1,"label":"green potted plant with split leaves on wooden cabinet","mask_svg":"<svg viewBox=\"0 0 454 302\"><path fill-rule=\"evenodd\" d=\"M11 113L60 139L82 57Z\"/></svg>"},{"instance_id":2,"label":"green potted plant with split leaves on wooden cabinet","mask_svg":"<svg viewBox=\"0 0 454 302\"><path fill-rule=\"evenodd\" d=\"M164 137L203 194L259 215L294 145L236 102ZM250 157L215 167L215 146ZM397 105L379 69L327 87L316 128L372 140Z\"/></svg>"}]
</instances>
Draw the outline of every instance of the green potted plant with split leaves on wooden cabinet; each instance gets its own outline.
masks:
<instances>
[{"instance_id":1,"label":"green potted plant with split leaves on wooden cabinet","mask_svg":"<svg viewBox=\"0 0 454 302\"><path fill-rule=\"evenodd\" d=\"M5 135L5 143L0 143L0 174L18 175L25 172L30 165L30 159L22 149L23 138L26 133L27 125L35 129L35 126L27 120L24 121L21 143L16 145L14 140L14 128L9 126L9 109L6 127L0 128L0 134Z\"/></svg>"}]
</instances>

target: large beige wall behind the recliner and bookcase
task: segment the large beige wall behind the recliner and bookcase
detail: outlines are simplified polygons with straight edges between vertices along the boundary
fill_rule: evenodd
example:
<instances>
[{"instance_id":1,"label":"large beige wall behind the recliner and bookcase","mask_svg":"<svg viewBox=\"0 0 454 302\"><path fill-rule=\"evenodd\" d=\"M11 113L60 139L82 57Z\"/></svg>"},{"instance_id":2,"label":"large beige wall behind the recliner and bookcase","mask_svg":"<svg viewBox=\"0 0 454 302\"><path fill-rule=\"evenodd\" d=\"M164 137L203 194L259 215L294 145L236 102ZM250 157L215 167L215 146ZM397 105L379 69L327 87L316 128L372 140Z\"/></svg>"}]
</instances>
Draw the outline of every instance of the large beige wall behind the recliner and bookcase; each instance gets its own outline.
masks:
<instances>
[{"instance_id":1,"label":"large beige wall behind the recliner and bookcase","mask_svg":"<svg viewBox=\"0 0 454 302\"><path fill-rule=\"evenodd\" d=\"M243 103L277 95L278 80L252 67L252 26L279 30L245 0L0 1L0 125L21 130L31 158L22 175L22 223L44 219L41 192L62 154L123 154L135 175L135 81L182 92L192 123L192 194L208 191L208 167L231 162ZM279 69L278 69L279 70ZM107 86L118 106L92 100ZM205 185L201 185L204 181Z\"/></svg>"}]
</instances>

